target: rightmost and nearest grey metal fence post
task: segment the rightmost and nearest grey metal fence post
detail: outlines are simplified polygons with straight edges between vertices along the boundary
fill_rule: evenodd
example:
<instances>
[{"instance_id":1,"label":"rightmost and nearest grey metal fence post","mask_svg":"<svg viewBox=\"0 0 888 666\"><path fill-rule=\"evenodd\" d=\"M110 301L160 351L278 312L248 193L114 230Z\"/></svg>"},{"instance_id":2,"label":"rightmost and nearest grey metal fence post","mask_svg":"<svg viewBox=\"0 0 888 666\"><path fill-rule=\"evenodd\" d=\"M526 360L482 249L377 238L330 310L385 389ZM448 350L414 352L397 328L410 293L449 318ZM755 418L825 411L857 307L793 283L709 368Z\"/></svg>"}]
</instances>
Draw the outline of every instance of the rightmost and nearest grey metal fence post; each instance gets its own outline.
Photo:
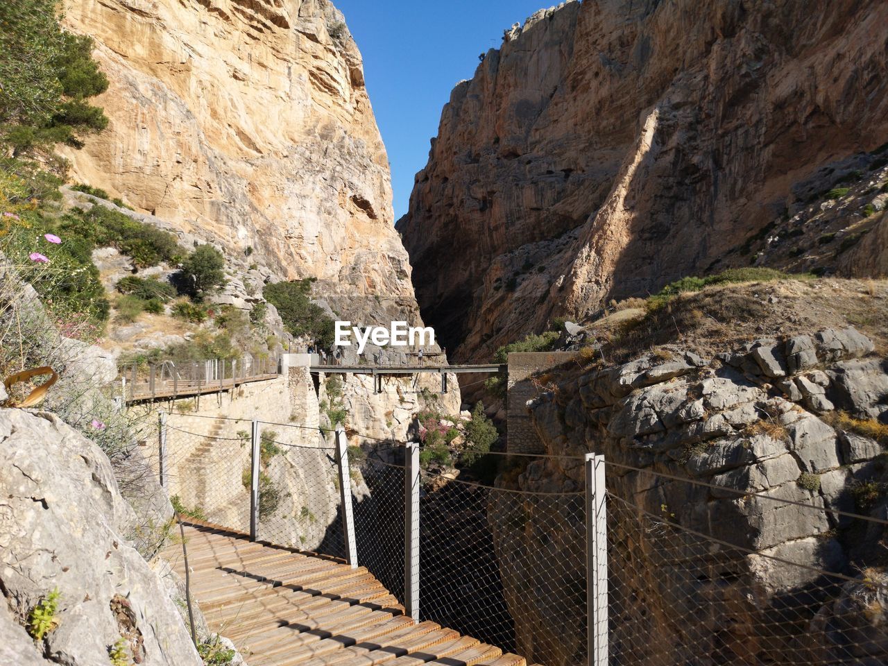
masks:
<instances>
[{"instance_id":1,"label":"rightmost and nearest grey metal fence post","mask_svg":"<svg viewBox=\"0 0 888 666\"><path fill-rule=\"evenodd\" d=\"M586 609L589 666L607 666L605 456L586 454Z\"/></svg>"}]
</instances>

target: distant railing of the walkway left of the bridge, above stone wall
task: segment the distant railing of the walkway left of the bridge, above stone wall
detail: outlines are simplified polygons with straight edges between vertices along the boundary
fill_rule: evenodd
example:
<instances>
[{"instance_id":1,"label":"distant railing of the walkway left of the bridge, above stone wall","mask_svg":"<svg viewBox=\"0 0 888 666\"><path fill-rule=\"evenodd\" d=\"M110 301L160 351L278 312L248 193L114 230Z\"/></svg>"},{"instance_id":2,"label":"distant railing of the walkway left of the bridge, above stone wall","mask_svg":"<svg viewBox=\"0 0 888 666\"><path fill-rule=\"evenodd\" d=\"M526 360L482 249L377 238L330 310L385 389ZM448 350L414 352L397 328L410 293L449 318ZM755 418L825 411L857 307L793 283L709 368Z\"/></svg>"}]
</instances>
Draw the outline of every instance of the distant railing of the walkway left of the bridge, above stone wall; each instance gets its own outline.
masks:
<instances>
[{"instance_id":1,"label":"distant railing of the walkway left of the bridge, above stone wall","mask_svg":"<svg viewBox=\"0 0 888 666\"><path fill-rule=\"evenodd\" d=\"M176 400L222 391L279 373L278 359L250 355L232 360L132 362L118 366L116 385L125 401Z\"/></svg>"}]
</instances>

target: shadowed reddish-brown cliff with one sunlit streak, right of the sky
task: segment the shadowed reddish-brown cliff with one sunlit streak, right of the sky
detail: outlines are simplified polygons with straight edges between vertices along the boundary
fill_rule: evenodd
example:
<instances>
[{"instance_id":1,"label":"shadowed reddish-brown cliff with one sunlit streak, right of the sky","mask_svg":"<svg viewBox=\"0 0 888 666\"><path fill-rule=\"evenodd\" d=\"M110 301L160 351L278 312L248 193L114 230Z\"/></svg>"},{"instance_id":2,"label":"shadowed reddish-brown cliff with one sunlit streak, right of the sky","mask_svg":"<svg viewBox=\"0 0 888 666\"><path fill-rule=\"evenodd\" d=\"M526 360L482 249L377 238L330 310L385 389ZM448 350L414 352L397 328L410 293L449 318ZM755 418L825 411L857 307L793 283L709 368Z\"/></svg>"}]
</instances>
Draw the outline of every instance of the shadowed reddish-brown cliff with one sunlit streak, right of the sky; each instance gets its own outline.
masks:
<instances>
[{"instance_id":1,"label":"shadowed reddish-brown cliff with one sunlit streak, right of the sky","mask_svg":"<svg viewBox=\"0 0 888 666\"><path fill-rule=\"evenodd\" d=\"M792 214L795 184L888 139L886 20L875 0L602 0L508 31L452 92L398 224L443 344L488 355ZM852 274L884 258L860 253Z\"/></svg>"}]
</instances>

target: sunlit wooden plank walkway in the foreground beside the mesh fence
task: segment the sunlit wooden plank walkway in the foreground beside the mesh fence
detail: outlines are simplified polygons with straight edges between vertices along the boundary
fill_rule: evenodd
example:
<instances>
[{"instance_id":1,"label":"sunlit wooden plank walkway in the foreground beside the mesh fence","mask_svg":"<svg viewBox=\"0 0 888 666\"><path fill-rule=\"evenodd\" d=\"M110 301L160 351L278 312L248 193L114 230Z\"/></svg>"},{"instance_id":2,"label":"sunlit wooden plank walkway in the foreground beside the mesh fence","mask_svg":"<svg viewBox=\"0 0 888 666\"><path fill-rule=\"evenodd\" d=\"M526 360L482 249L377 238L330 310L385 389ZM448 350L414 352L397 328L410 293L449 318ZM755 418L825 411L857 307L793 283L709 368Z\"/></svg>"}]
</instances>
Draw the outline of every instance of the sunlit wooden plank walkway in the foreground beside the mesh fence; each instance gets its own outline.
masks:
<instances>
[{"instance_id":1,"label":"sunlit wooden plank walkway in the foreground beside the mesh fence","mask_svg":"<svg viewBox=\"0 0 888 666\"><path fill-rule=\"evenodd\" d=\"M191 593L250 666L526 666L434 622L415 623L364 567L209 526L186 527ZM185 576L181 543L164 551Z\"/></svg>"}]
</instances>

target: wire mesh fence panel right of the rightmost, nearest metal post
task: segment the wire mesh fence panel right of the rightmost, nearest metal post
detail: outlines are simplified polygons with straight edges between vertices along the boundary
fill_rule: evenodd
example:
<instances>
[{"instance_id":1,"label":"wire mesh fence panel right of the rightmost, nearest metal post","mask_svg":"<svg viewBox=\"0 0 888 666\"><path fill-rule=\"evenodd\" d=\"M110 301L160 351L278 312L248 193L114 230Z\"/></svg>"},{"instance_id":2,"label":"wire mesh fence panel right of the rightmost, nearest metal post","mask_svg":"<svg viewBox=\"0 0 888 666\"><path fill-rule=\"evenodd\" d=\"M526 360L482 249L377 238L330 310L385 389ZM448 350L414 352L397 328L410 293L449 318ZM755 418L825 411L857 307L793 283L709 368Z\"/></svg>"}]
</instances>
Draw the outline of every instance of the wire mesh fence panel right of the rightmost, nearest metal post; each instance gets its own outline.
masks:
<instances>
[{"instance_id":1,"label":"wire mesh fence panel right of the rightmost, nearest metal post","mask_svg":"<svg viewBox=\"0 0 888 666\"><path fill-rule=\"evenodd\" d=\"M743 491L610 472L610 664L884 663L878 520L795 480Z\"/></svg>"}]
</instances>

